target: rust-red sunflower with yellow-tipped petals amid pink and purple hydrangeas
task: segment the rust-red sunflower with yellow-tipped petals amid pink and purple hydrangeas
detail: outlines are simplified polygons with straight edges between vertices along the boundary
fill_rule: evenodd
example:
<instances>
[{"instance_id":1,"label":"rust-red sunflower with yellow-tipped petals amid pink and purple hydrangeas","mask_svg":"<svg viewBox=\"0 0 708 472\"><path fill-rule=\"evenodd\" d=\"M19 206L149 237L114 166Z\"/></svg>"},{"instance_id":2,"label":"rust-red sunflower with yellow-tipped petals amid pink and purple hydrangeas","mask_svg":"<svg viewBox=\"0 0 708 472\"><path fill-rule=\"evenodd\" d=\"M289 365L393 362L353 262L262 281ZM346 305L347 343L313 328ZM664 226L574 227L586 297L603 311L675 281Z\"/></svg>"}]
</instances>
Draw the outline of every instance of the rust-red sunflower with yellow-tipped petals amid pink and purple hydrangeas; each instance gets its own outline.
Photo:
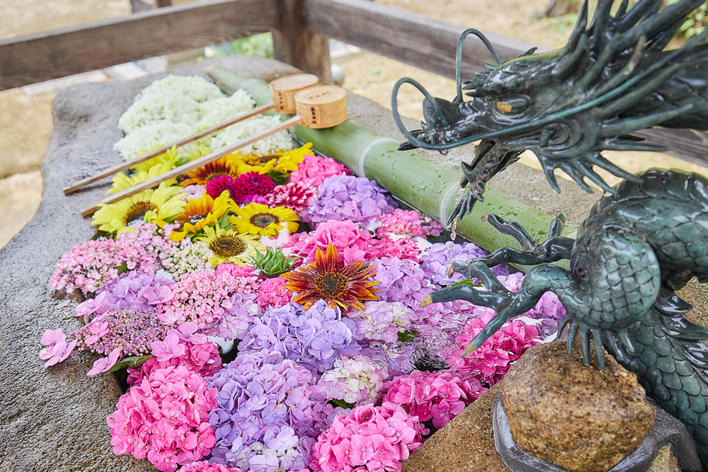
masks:
<instances>
[{"instance_id":1,"label":"rust-red sunflower with yellow-tipped petals amid pink and purple hydrangeas","mask_svg":"<svg viewBox=\"0 0 708 472\"><path fill-rule=\"evenodd\" d=\"M337 249L329 244L324 255L317 248L314 263L280 277L288 281L285 287L297 293L293 301L303 303L306 311L319 300L326 301L330 308L339 305L343 309L350 307L362 310L364 304L361 300L379 299L373 293L379 290L372 288L379 282L366 280L376 274L373 272L376 266L364 265L362 261L349 265L338 264Z\"/></svg>"}]
</instances>

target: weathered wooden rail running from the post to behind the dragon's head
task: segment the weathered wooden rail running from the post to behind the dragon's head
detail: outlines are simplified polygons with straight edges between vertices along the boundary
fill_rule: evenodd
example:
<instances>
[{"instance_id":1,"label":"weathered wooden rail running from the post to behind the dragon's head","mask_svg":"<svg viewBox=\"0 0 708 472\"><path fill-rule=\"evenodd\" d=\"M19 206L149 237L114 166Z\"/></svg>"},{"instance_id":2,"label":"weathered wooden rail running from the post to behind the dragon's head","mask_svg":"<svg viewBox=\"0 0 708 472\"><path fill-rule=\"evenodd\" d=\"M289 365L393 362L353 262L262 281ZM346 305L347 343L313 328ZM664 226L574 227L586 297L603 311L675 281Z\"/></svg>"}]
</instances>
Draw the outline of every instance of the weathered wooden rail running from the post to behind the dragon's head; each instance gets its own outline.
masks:
<instances>
[{"instance_id":1,"label":"weathered wooden rail running from the post to behind the dragon's head","mask_svg":"<svg viewBox=\"0 0 708 472\"><path fill-rule=\"evenodd\" d=\"M303 0L303 3L307 30L455 78L457 40L467 28L463 25L365 0ZM535 46L494 33L484 34L502 59L512 59ZM463 58L462 76L467 78L482 70L484 62L494 62L474 36L467 38Z\"/></svg>"}]
</instances>

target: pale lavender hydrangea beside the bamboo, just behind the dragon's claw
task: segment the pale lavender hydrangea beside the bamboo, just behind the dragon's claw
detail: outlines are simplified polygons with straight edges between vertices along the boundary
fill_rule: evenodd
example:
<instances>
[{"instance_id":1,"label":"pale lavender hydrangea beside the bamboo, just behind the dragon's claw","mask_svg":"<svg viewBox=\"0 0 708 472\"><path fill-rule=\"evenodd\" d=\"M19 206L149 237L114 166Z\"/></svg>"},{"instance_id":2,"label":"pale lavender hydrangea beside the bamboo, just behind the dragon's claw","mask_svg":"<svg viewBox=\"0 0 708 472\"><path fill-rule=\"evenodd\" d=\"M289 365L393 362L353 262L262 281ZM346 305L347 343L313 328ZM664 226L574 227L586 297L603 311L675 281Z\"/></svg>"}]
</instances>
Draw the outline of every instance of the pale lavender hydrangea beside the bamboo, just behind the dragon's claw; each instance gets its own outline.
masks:
<instances>
[{"instance_id":1,"label":"pale lavender hydrangea beside the bamboo, just behind the dragon's claw","mask_svg":"<svg viewBox=\"0 0 708 472\"><path fill-rule=\"evenodd\" d=\"M435 243L425 252L421 253L421 267L430 280L441 287L463 280L462 274L455 273L452 277L447 277L447 270L455 260L469 262L474 258L479 258L488 253L474 243L455 244L451 241L447 243ZM495 275L508 275L509 270L506 265L497 265L491 270Z\"/></svg>"}]
</instances>

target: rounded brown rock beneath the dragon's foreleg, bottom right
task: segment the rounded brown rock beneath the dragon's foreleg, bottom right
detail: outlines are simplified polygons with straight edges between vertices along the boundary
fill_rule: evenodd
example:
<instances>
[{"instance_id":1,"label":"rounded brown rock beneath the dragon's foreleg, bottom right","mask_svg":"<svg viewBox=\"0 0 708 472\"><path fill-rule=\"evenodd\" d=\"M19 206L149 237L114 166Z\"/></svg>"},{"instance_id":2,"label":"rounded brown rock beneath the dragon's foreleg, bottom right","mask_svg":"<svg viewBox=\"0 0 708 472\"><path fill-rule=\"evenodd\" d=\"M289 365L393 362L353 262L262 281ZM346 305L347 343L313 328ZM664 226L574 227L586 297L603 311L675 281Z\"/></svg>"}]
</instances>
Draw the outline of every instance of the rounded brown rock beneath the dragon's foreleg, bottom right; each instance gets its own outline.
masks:
<instances>
[{"instance_id":1,"label":"rounded brown rock beneath the dragon's foreleg, bottom right","mask_svg":"<svg viewBox=\"0 0 708 472\"><path fill-rule=\"evenodd\" d=\"M594 355L593 355L594 361ZM515 442L569 471L602 472L634 451L653 427L636 375L605 354L605 370L583 365L565 343L530 348L509 370L502 401Z\"/></svg>"}]
</instances>

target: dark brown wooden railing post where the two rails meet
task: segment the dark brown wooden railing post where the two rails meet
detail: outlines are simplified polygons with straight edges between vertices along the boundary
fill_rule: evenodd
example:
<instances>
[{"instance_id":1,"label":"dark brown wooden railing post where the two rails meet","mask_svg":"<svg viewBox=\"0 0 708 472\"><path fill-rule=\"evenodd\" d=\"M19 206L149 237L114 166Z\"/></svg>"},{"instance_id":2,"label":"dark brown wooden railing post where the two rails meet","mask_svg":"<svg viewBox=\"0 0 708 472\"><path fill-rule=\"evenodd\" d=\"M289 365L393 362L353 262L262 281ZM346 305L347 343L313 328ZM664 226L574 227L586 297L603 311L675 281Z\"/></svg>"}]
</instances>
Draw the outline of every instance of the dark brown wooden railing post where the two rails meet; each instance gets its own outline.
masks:
<instances>
[{"instance_id":1,"label":"dark brown wooden railing post where the two rails meet","mask_svg":"<svg viewBox=\"0 0 708 472\"><path fill-rule=\"evenodd\" d=\"M273 31L275 59L330 82L329 38L305 30L303 7L303 0L278 2L280 28Z\"/></svg>"}]
</instances>

